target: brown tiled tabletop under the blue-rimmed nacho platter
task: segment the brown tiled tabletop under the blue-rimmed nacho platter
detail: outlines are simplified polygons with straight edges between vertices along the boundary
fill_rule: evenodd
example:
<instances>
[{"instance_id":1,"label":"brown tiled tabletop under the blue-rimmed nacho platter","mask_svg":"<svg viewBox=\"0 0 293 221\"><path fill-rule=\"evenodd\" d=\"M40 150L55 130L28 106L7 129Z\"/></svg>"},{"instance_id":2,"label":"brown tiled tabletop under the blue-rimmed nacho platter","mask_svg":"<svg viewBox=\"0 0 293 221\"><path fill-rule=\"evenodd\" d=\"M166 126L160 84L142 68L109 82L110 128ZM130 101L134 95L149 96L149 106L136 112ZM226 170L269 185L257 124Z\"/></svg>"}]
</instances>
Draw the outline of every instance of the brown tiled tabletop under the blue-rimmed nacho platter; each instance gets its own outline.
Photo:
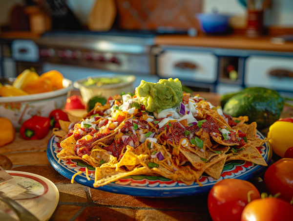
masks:
<instances>
[{"instance_id":1,"label":"brown tiled tabletop under the blue-rimmed nacho platter","mask_svg":"<svg viewBox=\"0 0 293 221\"><path fill-rule=\"evenodd\" d=\"M213 105L219 104L219 95L201 92L200 95L208 98ZM293 116L293 109L286 107L282 116ZM48 134L42 140L28 141L20 133L16 133L13 143L0 148L0 154L12 161L12 170L38 174L55 183L60 200L50 221L211 221L207 206L208 194L151 199L108 193L78 183L71 184L47 159L46 146L50 136ZM272 162L277 159L273 155ZM263 174L259 177L263 177ZM254 178L250 181L260 192L266 192L264 182L260 180Z\"/></svg>"}]
</instances>

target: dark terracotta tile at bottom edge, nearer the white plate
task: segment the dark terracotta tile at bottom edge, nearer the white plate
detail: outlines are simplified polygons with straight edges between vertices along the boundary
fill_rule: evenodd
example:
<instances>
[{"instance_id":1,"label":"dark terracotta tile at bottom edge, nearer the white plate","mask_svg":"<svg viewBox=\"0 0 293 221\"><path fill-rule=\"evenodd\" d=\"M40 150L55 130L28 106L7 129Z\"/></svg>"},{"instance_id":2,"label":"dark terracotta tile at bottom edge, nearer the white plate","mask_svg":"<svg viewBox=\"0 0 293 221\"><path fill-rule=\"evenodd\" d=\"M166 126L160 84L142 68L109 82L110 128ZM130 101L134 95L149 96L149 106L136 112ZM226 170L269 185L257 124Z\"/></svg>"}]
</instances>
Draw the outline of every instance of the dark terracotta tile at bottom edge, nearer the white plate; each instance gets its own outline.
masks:
<instances>
[{"instance_id":1,"label":"dark terracotta tile at bottom edge, nearer the white plate","mask_svg":"<svg viewBox=\"0 0 293 221\"><path fill-rule=\"evenodd\" d=\"M135 221L135 210L87 207L75 221Z\"/></svg>"}]
</instances>

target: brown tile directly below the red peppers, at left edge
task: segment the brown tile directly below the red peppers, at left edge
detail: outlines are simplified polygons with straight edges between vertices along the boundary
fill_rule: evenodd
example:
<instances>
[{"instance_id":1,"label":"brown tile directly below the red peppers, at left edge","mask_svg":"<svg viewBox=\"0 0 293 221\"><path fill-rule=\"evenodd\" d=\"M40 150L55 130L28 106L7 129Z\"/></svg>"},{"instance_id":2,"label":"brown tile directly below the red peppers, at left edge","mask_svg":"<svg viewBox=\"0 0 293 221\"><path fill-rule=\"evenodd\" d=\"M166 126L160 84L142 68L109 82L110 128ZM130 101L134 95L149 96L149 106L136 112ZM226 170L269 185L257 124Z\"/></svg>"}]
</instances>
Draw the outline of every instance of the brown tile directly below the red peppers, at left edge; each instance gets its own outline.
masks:
<instances>
[{"instance_id":1,"label":"brown tile directly below the red peppers, at left edge","mask_svg":"<svg viewBox=\"0 0 293 221\"><path fill-rule=\"evenodd\" d=\"M25 139L22 138L20 133L15 134L15 139L11 144L8 144L4 147L0 148L0 154L17 152L17 151L45 151L47 148L47 143L49 138L51 137L52 132L50 131L47 136L45 136L41 140L30 140L26 142Z\"/></svg>"}]
</instances>

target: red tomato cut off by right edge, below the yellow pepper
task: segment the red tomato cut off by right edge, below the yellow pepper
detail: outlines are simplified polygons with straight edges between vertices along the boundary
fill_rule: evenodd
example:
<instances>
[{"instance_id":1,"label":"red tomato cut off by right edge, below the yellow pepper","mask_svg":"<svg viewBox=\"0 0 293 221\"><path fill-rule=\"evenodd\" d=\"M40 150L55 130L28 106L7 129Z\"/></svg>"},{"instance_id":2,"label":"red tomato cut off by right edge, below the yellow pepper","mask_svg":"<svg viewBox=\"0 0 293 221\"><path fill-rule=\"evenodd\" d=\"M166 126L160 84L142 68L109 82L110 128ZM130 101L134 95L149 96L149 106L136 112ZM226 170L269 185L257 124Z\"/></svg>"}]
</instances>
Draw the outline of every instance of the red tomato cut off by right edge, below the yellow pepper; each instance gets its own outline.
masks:
<instances>
[{"instance_id":1,"label":"red tomato cut off by right edge, below the yellow pepper","mask_svg":"<svg viewBox=\"0 0 293 221\"><path fill-rule=\"evenodd\" d=\"M280 193L279 198L290 202L293 197L293 159L282 158L272 164L266 171L264 180L270 194Z\"/></svg>"}]
</instances>

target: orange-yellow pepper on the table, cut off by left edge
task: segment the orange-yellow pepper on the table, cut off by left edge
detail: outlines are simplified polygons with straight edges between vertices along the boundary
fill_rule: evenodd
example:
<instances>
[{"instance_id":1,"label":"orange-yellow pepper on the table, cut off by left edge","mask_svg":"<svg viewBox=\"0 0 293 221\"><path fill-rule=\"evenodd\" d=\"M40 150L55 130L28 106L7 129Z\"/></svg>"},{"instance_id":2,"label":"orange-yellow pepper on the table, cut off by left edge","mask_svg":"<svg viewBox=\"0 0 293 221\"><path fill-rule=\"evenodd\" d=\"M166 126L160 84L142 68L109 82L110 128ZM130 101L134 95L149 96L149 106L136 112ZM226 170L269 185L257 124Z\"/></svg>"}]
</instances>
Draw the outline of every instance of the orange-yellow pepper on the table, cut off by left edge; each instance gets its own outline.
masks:
<instances>
[{"instance_id":1,"label":"orange-yellow pepper on the table, cut off by left edge","mask_svg":"<svg viewBox=\"0 0 293 221\"><path fill-rule=\"evenodd\" d=\"M11 121L5 117L0 117L0 147L14 140L15 128Z\"/></svg>"}]
</instances>

